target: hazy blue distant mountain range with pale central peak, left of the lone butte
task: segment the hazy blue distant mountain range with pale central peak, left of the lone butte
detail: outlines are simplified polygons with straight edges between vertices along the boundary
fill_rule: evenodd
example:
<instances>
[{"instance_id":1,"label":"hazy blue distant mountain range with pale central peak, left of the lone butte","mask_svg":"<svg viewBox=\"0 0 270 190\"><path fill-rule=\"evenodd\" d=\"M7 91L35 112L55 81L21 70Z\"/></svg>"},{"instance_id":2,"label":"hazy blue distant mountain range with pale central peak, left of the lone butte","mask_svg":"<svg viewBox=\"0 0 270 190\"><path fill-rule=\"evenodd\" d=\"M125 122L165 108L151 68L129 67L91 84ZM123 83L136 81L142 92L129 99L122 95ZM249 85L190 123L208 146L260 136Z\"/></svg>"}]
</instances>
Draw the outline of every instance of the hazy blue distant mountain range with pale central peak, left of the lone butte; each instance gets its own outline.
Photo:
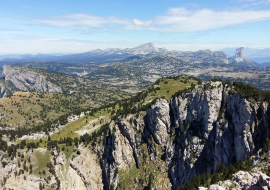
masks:
<instances>
[{"instance_id":1,"label":"hazy blue distant mountain range with pale central peak, left of the lone butte","mask_svg":"<svg viewBox=\"0 0 270 190\"><path fill-rule=\"evenodd\" d=\"M166 55L177 59L182 59L190 63L217 63L227 64L227 56L223 52L212 52L210 50L201 50L196 52L190 51L168 51L166 48L157 48L151 42L134 48L108 48L95 49L85 53L56 55L56 54L37 54L37 55L8 55L2 56L0 66L13 65L28 62L57 62L57 63L106 63L116 62L127 59L134 55L144 55L146 57L154 57L156 55ZM1 58L1 57L0 57Z\"/></svg>"}]
</instances>

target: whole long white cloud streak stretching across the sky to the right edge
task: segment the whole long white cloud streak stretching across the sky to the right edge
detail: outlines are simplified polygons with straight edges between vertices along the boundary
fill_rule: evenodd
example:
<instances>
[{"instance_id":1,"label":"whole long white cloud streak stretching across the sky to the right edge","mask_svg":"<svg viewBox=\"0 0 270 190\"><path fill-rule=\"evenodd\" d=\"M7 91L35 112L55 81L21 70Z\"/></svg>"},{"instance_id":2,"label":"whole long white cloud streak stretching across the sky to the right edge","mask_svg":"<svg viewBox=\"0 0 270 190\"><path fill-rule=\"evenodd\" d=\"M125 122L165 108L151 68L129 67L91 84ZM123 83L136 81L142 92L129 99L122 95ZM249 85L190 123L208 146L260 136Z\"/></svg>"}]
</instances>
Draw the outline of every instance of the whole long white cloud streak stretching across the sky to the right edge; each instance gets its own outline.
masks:
<instances>
[{"instance_id":1,"label":"whole long white cloud streak stretching across the sky to the right edge","mask_svg":"<svg viewBox=\"0 0 270 190\"><path fill-rule=\"evenodd\" d=\"M270 10L215 11L211 9L187 10L177 7L170 8L165 14L145 21L137 18L102 17L90 14L67 14L34 21L57 27L100 31L193 32L268 20L270 20Z\"/></svg>"}]
</instances>

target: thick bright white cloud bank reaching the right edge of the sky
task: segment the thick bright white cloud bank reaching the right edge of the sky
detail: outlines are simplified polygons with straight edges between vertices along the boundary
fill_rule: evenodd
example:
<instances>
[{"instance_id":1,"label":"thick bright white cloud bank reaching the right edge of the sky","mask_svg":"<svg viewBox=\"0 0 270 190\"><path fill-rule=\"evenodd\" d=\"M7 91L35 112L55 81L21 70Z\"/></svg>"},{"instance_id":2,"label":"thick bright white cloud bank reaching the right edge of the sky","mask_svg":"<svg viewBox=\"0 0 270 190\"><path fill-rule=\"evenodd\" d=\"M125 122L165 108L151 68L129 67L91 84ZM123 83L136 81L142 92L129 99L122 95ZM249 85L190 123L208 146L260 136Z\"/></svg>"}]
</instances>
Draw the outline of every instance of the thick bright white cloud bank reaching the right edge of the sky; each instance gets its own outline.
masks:
<instances>
[{"instance_id":1,"label":"thick bright white cloud bank reaching the right edge of the sky","mask_svg":"<svg viewBox=\"0 0 270 190\"><path fill-rule=\"evenodd\" d=\"M239 24L270 20L270 11L214 11L200 9L171 8L153 21L149 28L161 32L193 32L235 26Z\"/></svg>"}]
</instances>

